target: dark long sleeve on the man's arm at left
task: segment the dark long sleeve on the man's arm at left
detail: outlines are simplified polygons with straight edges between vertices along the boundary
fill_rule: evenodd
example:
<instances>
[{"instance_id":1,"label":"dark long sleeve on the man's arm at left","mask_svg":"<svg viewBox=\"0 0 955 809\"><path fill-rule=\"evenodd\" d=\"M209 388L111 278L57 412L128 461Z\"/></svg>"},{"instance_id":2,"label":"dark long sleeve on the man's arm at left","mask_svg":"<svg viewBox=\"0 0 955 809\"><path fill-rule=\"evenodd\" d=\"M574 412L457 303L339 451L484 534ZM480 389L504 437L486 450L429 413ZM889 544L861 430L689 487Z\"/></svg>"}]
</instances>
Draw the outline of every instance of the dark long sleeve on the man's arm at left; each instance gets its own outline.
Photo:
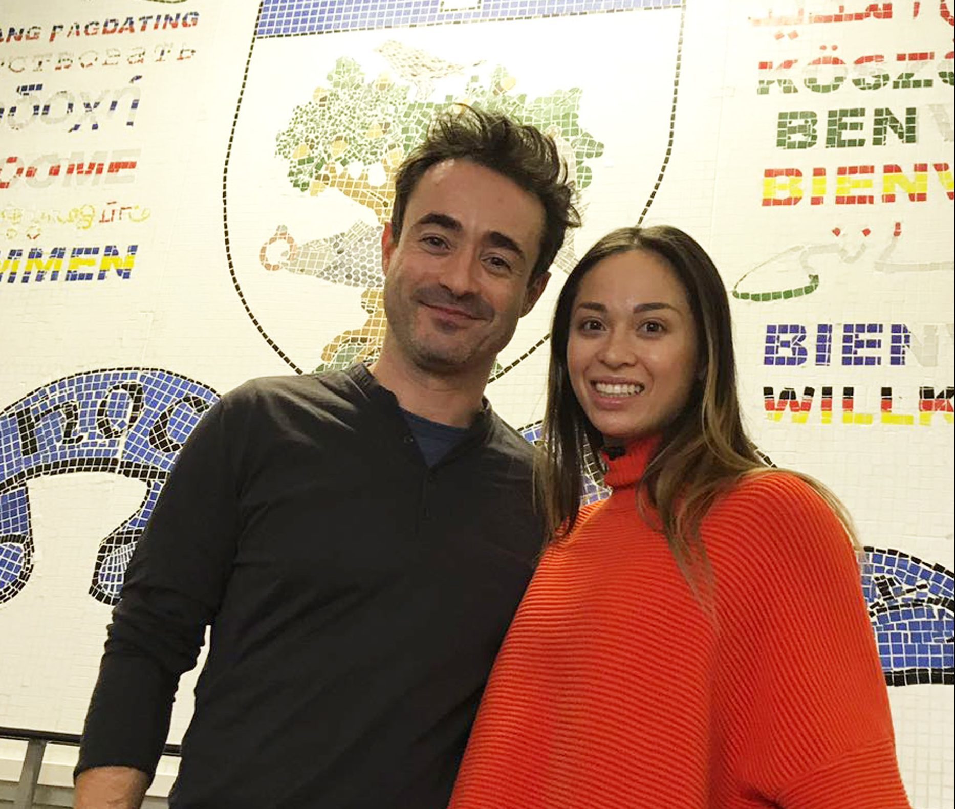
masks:
<instances>
[{"instance_id":1,"label":"dark long sleeve on the man's arm at left","mask_svg":"<svg viewBox=\"0 0 955 809\"><path fill-rule=\"evenodd\" d=\"M182 672L196 665L235 554L239 508L227 400L193 430L126 570L79 763L153 776Z\"/></svg>"}]
</instances>

